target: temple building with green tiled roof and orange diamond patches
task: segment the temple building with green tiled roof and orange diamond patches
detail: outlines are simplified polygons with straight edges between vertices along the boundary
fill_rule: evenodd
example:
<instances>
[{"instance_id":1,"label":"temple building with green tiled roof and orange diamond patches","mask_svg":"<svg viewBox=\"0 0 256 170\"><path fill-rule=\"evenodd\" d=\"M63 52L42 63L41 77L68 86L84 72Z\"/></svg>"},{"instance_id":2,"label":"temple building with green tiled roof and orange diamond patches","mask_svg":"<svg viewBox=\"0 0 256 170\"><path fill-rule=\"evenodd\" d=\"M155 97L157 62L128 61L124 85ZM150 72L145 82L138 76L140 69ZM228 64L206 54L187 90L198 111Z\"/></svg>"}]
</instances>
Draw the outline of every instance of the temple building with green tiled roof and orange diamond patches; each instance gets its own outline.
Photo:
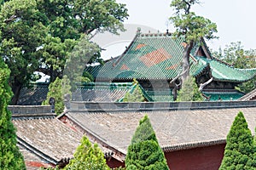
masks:
<instances>
[{"instance_id":1,"label":"temple building with green tiled roof and orange diamond patches","mask_svg":"<svg viewBox=\"0 0 256 170\"><path fill-rule=\"evenodd\" d=\"M143 34L137 31L123 54L87 71L95 77L97 84L132 82L135 78L153 101L172 101L175 83L170 82L181 74L186 45L183 37L175 39L170 33ZM190 75L195 77L198 85L212 80L202 91L206 99L236 100L244 94L235 87L252 79L256 69L234 68L214 58L202 40L191 50Z\"/></svg>"}]
</instances>

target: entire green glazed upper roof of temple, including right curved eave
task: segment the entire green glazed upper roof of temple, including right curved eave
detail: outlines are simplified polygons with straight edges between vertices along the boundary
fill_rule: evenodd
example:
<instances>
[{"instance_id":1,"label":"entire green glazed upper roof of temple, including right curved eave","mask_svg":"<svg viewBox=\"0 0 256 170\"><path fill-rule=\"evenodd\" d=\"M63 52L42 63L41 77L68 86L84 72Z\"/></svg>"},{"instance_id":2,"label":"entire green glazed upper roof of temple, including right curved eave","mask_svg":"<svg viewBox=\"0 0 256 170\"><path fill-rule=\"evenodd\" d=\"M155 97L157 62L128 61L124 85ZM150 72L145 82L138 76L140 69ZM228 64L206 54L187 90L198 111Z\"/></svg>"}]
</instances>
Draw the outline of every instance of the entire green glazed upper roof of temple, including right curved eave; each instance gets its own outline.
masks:
<instances>
[{"instance_id":1,"label":"entire green glazed upper roof of temple, including right curved eave","mask_svg":"<svg viewBox=\"0 0 256 170\"><path fill-rule=\"evenodd\" d=\"M206 42L203 41L203 44L204 51L208 54L207 57L195 58L197 51L201 48L201 42L195 43L191 50L190 57L195 58L190 59L191 75L197 76L207 65L211 66L211 74L216 81L246 82L256 75L256 69L235 69L213 59ZM182 70L184 45L183 37L174 39L172 36L163 34L137 35L124 54L111 59L105 65L96 67L96 71L92 71L92 74L98 80L131 80L132 78L170 80L177 77Z\"/></svg>"}]
</instances>

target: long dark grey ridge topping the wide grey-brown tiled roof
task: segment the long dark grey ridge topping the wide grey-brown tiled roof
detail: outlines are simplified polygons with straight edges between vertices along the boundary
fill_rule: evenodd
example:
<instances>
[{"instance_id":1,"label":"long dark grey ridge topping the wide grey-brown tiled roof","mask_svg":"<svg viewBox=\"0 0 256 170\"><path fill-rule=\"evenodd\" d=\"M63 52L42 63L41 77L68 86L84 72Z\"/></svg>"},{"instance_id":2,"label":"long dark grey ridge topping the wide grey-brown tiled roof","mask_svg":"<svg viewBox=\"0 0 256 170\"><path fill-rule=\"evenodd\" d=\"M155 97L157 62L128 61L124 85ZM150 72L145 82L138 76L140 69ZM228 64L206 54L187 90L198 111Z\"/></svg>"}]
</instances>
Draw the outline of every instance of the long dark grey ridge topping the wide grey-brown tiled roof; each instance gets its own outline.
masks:
<instances>
[{"instance_id":1,"label":"long dark grey ridge topping the wide grey-brown tiled roof","mask_svg":"<svg viewBox=\"0 0 256 170\"><path fill-rule=\"evenodd\" d=\"M71 102L71 111L160 111L160 110L198 110L256 107L256 101L207 101L207 102Z\"/></svg>"}]
</instances>

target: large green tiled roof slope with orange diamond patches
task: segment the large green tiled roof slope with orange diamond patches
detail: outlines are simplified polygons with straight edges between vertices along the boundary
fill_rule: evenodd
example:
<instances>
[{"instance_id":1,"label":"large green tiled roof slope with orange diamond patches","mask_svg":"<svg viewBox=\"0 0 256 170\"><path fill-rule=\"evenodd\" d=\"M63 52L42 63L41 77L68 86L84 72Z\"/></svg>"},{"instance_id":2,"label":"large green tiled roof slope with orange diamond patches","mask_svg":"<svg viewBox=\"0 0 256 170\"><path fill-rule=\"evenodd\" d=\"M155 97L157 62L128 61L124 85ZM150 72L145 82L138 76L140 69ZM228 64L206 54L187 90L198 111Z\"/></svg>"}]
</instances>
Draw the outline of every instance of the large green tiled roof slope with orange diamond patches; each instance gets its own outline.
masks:
<instances>
[{"instance_id":1,"label":"large green tiled roof slope with orange diamond patches","mask_svg":"<svg viewBox=\"0 0 256 170\"><path fill-rule=\"evenodd\" d=\"M173 39L162 34L137 35L123 55L97 68L96 78L172 79L182 70L183 50L183 38ZM190 60L190 73L194 76L207 66Z\"/></svg>"}]
</instances>

